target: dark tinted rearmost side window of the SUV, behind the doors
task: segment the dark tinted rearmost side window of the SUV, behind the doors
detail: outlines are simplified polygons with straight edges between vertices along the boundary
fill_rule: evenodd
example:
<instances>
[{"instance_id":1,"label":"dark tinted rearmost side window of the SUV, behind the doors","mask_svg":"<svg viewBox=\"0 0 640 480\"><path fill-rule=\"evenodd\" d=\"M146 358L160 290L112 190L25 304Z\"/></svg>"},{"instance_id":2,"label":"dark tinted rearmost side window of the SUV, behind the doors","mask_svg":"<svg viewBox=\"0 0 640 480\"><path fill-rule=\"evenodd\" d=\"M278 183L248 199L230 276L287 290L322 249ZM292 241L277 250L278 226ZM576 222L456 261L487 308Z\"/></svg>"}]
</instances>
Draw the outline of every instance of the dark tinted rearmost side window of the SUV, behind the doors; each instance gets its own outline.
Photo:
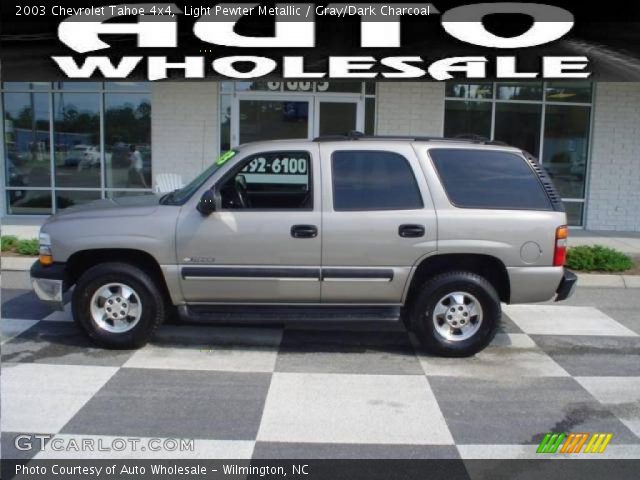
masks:
<instances>
[{"instance_id":1,"label":"dark tinted rearmost side window of the SUV, behind the doors","mask_svg":"<svg viewBox=\"0 0 640 480\"><path fill-rule=\"evenodd\" d=\"M434 148L429 155L457 207L551 210L535 172L516 154Z\"/></svg>"}]
</instances>

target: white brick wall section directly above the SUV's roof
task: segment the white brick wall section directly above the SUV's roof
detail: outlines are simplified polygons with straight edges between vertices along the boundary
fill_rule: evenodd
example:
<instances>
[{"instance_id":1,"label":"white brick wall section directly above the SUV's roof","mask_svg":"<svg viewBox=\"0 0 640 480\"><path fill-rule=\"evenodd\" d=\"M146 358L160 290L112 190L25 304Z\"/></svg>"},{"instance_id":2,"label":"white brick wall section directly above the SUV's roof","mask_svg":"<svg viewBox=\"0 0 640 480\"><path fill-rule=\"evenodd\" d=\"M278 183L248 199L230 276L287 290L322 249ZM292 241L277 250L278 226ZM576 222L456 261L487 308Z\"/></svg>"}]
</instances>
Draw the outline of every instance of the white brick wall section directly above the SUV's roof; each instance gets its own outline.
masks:
<instances>
[{"instance_id":1,"label":"white brick wall section directly above the SUV's roof","mask_svg":"<svg viewBox=\"0 0 640 480\"><path fill-rule=\"evenodd\" d=\"M434 135L444 132L444 83L379 82L378 135Z\"/></svg>"}]
</instances>

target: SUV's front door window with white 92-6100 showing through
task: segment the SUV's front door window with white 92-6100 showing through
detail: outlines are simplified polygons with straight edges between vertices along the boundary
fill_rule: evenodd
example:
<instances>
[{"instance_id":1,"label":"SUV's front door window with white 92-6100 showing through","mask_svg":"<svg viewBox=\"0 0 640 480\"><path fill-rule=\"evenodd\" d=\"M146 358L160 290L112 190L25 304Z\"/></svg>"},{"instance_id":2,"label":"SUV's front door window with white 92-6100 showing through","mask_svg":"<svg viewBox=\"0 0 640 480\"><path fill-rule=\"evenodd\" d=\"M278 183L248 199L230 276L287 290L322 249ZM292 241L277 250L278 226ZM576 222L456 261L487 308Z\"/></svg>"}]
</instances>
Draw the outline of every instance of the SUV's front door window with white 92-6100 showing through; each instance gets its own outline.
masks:
<instances>
[{"instance_id":1,"label":"SUV's front door window with white 92-6100 showing through","mask_svg":"<svg viewBox=\"0 0 640 480\"><path fill-rule=\"evenodd\" d=\"M220 188L222 208L313 209L308 152L265 152L242 162Z\"/></svg>"}]
</instances>

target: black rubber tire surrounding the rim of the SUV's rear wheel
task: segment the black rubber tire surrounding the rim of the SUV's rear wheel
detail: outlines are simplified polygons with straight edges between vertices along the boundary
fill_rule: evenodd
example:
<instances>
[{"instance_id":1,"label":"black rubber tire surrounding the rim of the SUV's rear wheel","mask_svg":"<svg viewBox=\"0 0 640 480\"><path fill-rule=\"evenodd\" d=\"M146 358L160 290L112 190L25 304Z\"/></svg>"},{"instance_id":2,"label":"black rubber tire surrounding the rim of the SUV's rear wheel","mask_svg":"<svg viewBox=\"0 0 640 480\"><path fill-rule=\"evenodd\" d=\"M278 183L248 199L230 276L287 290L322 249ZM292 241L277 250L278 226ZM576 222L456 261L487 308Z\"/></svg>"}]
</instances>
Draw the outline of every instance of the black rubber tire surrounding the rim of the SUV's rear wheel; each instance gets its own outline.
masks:
<instances>
[{"instance_id":1,"label":"black rubber tire surrounding the rim of the SUV's rear wheel","mask_svg":"<svg viewBox=\"0 0 640 480\"><path fill-rule=\"evenodd\" d=\"M482 321L477 330L464 340L445 338L439 333L433 318L438 302L453 292L472 295L482 308ZM422 346L444 357L468 357L478 353L493 340L502 316L500 298L493 285L475 273L464 271L443 273L425 282L409 306L409 312L411 330Z\"/></svg>"}]
</instances>

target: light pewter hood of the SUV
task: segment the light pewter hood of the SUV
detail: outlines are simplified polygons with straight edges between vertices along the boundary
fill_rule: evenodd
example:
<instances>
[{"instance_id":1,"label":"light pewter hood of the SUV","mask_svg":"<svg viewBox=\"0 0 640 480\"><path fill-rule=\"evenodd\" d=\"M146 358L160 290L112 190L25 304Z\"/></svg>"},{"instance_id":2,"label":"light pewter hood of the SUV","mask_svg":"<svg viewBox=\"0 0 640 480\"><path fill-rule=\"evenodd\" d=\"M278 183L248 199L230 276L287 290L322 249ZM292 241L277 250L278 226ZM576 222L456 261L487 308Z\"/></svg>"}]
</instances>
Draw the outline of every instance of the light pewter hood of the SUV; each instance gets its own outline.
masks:
<instances>
[{"instance_id":1,"label":"light pewter hood of the SUV","mask_svg":"<svg viewBox=\"0 0 640 480\"><path fill-rule=\"evenodd\" d=\"M57 219L97 217L97 216L135 216L151 215L160 206L160 195L135 195L115 199L95 200L64 210L49 217L47 223Z\"/></svg>"}]
</instances>

